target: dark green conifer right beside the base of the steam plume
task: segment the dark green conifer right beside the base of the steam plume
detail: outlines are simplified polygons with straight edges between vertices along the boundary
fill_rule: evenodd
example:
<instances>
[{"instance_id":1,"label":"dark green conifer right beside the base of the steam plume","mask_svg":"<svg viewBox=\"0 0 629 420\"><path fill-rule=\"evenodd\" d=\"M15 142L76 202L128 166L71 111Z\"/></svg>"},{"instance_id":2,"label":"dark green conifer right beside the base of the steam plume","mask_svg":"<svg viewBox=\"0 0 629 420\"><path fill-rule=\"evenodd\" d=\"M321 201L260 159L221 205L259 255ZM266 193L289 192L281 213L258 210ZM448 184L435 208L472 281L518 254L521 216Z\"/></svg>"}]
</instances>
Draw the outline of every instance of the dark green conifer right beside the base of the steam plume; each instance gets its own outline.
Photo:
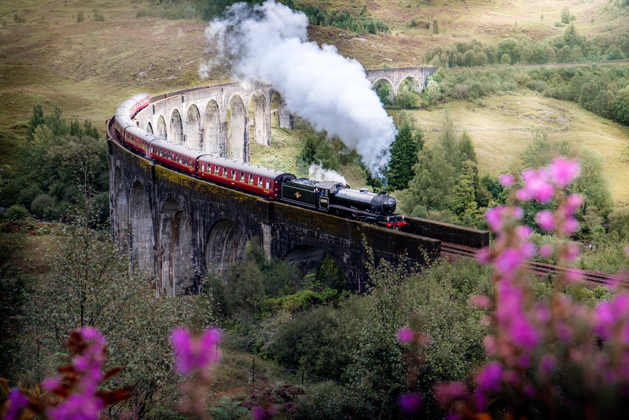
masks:
<instances>
[{"instance_id":1,"label":"dark green conifer right beside the base of the steam plume","mask_svg":"<svg viewBox=\"0 0 629 420\"><path fill-rule=\"evenodd\" d=\"M395 141L391 145L391 162L389 162L389 191L405 190L408 182L413 179L413 166L418 162L418 144L411 132L408 120L402 123ZM421 134L423 146L423 133Z\"/></svg>"}]
</instances>

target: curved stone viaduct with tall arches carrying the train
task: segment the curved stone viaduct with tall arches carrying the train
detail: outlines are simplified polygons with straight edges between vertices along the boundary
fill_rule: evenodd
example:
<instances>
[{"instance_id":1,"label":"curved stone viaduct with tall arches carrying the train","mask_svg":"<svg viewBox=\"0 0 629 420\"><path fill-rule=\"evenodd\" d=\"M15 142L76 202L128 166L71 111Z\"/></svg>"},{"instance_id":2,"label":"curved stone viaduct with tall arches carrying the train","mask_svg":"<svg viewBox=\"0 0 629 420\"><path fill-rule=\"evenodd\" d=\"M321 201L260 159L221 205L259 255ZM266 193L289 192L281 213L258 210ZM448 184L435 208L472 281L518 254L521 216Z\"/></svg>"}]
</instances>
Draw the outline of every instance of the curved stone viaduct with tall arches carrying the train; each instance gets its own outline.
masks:
<instances>
[{"instance_id":1,"label":"curved stone viaduct with tall arches carrying the train","mask_svg":"<svg viewBox=\"0 0 629 420\"><path fill-rule=\"evenodd\" d=\"M294 128L276 91L238 82L153 96L135 120L170 141L248 161L248 103L253 101L253 139L268 145L275 95L280 127ZM359 292L368 276L363 240L376 261L396 261L408 253L409 263L424 263L423 251L437 257L441 240L489 244L488 232L431 220L408 218L408 231L400 232L265 200L156 166L120 144L112 120L107 135L111 232L128 241L131 259L152 273L159 295L198 293L209 265L225 273L252 238L259 239L269 258L286 258L306 272L314 272L330 255Z\"/></svg>"}]
</instances>

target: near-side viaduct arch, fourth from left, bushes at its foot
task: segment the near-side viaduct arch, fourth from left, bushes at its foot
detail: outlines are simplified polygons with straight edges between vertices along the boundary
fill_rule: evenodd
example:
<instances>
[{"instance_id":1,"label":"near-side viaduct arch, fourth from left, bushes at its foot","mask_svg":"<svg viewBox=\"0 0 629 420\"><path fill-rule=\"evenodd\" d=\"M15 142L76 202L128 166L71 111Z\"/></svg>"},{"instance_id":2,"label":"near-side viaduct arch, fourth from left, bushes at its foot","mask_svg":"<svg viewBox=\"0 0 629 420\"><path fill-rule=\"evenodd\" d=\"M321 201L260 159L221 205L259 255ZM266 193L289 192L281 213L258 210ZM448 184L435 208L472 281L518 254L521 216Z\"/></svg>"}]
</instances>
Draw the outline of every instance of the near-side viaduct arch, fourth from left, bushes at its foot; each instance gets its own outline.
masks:
<instances>
[{"instance_id":1,"label":"near-side viaduct arch, fourth from left, bushes at its foot","mask_svg":"<svg viewBox=\"0 0 629 420\"><path fill-rule=\"evenodd\" d=\"M247 244L247 234L231 219L220 219L211 227L205 244L206 265L214 264L221 275L226 275L230 265L242 259Z\"/></svg>"}]
</instances>

